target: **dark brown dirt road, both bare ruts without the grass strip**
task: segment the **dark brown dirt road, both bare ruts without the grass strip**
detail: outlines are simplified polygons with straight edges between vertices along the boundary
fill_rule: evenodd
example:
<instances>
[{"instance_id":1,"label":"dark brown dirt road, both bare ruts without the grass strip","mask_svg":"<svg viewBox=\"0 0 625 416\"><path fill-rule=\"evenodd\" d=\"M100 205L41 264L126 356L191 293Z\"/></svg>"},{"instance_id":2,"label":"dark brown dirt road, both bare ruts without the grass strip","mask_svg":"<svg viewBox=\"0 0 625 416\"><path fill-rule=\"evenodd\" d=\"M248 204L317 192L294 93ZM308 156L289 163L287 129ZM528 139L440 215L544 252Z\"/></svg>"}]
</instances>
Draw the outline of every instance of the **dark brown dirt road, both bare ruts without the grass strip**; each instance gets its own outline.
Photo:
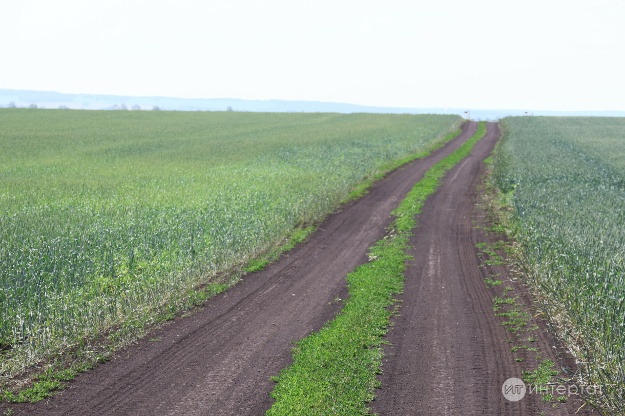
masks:
<instances>
[{"instance_id":1,"label":"dark brown dirt road, both bare ruts without the grass strip","mask_svg":"<svg viewBox=\"0 0 625 416\"><path fill-rule=\"evenodd\" d=\"M367 247L384 235L389 214L429 167L476 130L376 184L371 193L332 214L304 244L244 282L210 299L192 317L176 319L118 358L71 382L62 395L10 405L16 415L263 415L271 407L269 378L291 363L292 341L318 330L341 307L347 272L367 261ZM373 412L391 415L568 415L579 403L542 402L530 395L509 402L501 385L536 368L536 353L512 352L514 337L492 310L494 296L514 287L503 265L481 267L476 244L499 237L476 208L485 159L499 137L496 124L472 154L450 171L426 202L399 299L401 316L387 334L382 389ZM506 284L488 287L499 274ZM531 310L531 309L530 309ZM532 347L559 367L544 322ZM515 340L516 342L516 340ZM525 352L524 352L525 351ZM516 359L522 359L517 361ZM564 359L564 364L571 365ZM589 414L582 409L579 414Z\"/></svg>"}]
</instances>

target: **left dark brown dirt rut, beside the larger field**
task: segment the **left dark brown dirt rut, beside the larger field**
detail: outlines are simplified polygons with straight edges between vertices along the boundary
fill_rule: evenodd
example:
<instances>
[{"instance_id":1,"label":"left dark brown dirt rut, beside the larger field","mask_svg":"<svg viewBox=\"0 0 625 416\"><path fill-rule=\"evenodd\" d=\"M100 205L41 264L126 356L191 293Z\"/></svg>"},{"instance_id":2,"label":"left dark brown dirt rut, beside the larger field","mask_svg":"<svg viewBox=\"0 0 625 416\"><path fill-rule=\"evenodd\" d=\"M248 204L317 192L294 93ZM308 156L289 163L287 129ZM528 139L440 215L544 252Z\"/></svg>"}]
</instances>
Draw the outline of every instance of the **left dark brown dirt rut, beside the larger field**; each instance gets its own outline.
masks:
<instances>
[{"instance_id":1,"label":"left dark brown dirt rut, beside the larger field","mask_svg":"<svg viewBox=\"0 0 625 416\"><path fill-rule=\"evenodd\" d=\"M265 270L209 299L107 364L80 375L62 394L12 404L16 415L262 415L271 407L270 377L291 363L292 341L319 330L339 310L345 277L367 261L390 213L424 172L476 131L378 182L332 214L307 242ZM0 410L9 407L4 405Z\"/></svg>"}]
</instances>

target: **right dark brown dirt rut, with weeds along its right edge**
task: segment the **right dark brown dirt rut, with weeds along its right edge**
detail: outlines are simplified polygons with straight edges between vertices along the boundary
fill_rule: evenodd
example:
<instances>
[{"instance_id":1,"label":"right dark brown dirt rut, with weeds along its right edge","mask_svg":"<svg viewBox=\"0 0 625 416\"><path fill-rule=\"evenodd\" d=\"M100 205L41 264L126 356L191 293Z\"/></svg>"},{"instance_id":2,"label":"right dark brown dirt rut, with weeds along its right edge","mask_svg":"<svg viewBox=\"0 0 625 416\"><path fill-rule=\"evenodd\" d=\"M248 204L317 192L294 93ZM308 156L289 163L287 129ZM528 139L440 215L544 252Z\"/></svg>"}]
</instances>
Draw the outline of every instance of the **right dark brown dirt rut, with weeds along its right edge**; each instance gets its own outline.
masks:
<instances>
[{"instance_id":1,"label":"right dark brown dirt rut, with weeds along its right edge","mask_svg":"<svg viewBox=\"0 0 625 416\"><path fill-rule=\"evenodd\" d=\"M510 281L504 265L480 267L476 244L496 241L501 236L485 232L485 212L476 207L485 164L499 138L497 124L487 124L487 136L471 155L450 171L444 184L426 202L419 226L411 238L411 255L404 294L394 327L386 339L386 356L379 376L372 412L391 415L571 415L583 404L571 397L565 404L541 402L540 395L528 395L509 402L501 392L510 377L521 379L523 369L536 368L536 353L511 347L521 344L496 317L492 299L502 297L504 286L532 308L523 287ZM493 274L504 284L487 287L484 278ZM531 309L533 310L533 309ZM533 315L533 314L532 314ZM538 340L542 359L559 359L573 367L566 357L556 357L544 322L540 329L522 334ZM530 324L531 325L531 324ZM506 340L513 340L512 343ZM517 362L516 358L522 358ZM561 377L566 377L564 374ZM579 414L587 414L586 407Z\"/></svg>"}]
</instances>

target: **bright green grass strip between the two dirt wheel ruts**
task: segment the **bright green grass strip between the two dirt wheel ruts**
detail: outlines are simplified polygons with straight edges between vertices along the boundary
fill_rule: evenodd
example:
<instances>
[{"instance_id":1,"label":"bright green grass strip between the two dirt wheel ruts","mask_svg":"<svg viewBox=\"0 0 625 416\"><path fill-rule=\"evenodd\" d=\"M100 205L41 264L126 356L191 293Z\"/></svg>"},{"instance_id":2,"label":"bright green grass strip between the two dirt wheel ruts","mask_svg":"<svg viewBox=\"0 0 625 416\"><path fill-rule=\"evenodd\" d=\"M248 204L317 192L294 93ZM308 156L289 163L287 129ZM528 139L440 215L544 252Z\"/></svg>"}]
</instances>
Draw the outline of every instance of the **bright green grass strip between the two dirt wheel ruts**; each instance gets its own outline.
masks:
<instances>
[{"instance_id":1,"label":"bright green grass strip between the two dirt wheel ruts","mask_svg":"<svg viewBox=\"0 0 625 416\"><path fill-rule=\"evenodd\" d=\"M347 275L349 298L344 308L319 332L297 342L293 364L272 379L277 382L271 393L276 402L267 416L369 414L367 403L379 387L382 335L397 310L389 309L394 296L403 290L415 216L446 172L485 135L486 123L480 122L476 134L432 166L392 212L395 219L386 236L369 249L370 261Z\"/></svg>"}]
</instances>

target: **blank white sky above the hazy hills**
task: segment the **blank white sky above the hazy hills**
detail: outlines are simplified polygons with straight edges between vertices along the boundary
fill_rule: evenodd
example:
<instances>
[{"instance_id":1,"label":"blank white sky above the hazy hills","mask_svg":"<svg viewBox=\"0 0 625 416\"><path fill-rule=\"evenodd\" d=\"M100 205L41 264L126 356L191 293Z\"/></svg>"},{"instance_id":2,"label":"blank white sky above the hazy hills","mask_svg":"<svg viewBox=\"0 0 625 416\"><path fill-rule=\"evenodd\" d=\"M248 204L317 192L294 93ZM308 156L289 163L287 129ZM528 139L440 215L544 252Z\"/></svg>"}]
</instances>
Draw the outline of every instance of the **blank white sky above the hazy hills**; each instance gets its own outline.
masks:
<instances>
[{"instance_id":1,"label":"blank white sky above the hazy hills","mask_svg":"<svg viewBox=\"0 0 625 416\"><path fill-rule=\"evenodd\" d=\"M0 88L625 110L625 1L0 4Z\"/></svg>"}]
</instances>

